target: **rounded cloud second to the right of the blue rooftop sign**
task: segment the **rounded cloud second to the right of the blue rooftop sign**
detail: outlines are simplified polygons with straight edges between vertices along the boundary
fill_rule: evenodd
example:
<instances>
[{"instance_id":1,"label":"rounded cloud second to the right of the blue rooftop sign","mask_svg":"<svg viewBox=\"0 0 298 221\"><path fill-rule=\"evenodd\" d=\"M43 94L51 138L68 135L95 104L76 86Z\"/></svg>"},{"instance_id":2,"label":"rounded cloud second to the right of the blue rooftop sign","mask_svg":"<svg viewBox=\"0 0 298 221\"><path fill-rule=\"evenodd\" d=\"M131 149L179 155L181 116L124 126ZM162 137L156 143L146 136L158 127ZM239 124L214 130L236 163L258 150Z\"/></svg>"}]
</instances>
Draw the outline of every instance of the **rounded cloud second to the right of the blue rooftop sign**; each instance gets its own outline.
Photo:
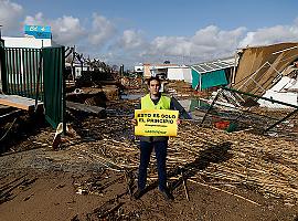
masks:
<instances>
[{"instance_id":1,"label":"rounded cloud second to the right of the blue rooftop sign","mask_svg":"<svg viewBox=\"0 0 298 221\"><path fill-rule=\"evenodd\" d=\"M116 33L114 24L105 17L93 14L92 31L88 41L93 45L102 46Z\"/></svg>"}]
</instances>

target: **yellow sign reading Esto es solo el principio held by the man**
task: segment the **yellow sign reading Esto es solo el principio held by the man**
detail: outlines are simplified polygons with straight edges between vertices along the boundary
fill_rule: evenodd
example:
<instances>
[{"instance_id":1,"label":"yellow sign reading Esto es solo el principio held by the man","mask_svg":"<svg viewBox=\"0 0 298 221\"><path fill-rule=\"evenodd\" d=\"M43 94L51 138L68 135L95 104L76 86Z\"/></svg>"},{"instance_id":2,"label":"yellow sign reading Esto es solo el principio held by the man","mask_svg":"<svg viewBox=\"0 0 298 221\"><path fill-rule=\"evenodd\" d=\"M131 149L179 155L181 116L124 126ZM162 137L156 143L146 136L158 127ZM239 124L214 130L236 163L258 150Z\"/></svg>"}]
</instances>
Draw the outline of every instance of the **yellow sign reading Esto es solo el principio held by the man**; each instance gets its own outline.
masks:
<instances>
[{"instance_id":1,"label":"yellow sign reading Esto es solo el principio held by the man","mask_svg":"<svg viewBox=\"0 0 298 221\"><path fill-rule=\"evenodd\" d=\"M178 110L136 109L135 135L138 136L177 136Z\"/></svg>"}]
</instances>

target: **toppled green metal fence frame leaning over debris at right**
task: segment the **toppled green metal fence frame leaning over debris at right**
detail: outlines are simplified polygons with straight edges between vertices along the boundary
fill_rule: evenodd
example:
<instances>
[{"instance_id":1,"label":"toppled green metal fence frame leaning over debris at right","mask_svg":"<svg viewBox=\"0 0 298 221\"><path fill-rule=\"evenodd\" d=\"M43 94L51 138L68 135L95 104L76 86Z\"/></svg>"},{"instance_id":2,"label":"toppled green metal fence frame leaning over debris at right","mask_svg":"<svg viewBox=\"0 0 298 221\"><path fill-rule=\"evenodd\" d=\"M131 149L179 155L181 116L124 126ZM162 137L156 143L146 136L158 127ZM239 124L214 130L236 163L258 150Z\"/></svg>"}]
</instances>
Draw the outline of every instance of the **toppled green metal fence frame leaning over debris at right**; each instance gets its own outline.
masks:
<instances>
[{"instance_id":1,"label":"toppled green metal fence frame leaning over debris at right","mask_svg":"<svg viewBox=\"0 0 298 221\"><path fill-rule=\"evenodd\" d=\"M231 95L228 95L226 92L231 93ZM220 103L220 99L223 96L225 96L226 105L224 103ZM232 103L232 96L234 97L233 99L238 98L240 101L242 99L245 101L245 98L243 97L252 98L253 101L264 99L270 103L284 105L288 109L287 112L279 109L280 113L284 113L284 115L280 114L278 116L268 116L264 114L258 114L256 106L249 107L244 107L241 105L236 106L235 103L234 104ZM234 106L231 106L231 104L233 104ZM217 113L212 112L212 109L216 109ZM286 134L287 130L285 129L285 127L284 127L285 130L283 130L283 128L281 129L278 128L278 125L281 125L284 122L291 119L291 117L297 116L297 114L298 114L298 106L296 105L270 99L267 97L260 97L254 94L241 92L233 88L221 87L215 97L213 98L209 109L205 112L205 115L201 122L201 126L204 125L209 116L213 117L216 116L222 119L246 124L247 126L255 128L262 134L267 134L272 130L278 131L279 134ZM298 134L296 138L298 139Z\"/></svg>"}]
</instances>

